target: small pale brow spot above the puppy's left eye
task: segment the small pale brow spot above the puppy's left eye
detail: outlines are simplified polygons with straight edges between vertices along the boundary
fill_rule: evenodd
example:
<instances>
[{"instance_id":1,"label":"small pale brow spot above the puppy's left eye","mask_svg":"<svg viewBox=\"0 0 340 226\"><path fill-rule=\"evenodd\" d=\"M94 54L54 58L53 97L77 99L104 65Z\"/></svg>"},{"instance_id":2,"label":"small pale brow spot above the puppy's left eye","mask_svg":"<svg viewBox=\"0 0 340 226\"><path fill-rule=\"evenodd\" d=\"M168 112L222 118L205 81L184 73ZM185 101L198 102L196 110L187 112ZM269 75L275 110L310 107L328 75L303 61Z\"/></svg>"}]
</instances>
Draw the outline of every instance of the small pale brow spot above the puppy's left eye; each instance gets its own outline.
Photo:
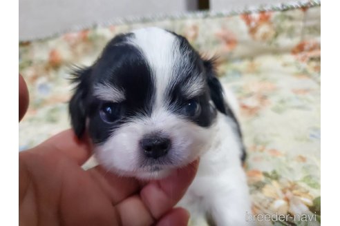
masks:
<instances>
[{"instance_id":1,"label":"small pale brow spot above the puppy's left eye","mask_svg":"<svg viewBox=\"0 0 340 226\"><path fill-rule=\"evenodd\" d=\"M120 103L125 100L124 90L108 83L100 83L93 88L93 94L102 101Z\"/></svg>"}]
</instances>

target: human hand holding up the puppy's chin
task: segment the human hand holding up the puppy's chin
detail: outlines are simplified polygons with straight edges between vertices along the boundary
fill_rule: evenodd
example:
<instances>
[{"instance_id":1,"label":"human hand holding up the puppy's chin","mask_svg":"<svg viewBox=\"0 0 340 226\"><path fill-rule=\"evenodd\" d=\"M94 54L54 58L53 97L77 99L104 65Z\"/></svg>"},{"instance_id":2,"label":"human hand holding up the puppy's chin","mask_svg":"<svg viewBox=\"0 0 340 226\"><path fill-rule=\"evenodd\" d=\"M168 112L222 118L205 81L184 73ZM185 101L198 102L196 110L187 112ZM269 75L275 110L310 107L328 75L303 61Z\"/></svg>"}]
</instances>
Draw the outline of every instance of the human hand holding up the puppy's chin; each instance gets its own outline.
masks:
<instances>
[{"instance_id":1,"label":"human hand holding up the puppy's chin","mask_svg":"<svg viewBox=\"0 0 340 226\"><path fill-rule=\"evenodd\" d=\"M193 180L198 161L142 185L100 166L82 170L90 156L88 139L79 141L72 130L20 152L19 224L187 225L188 212L173 206Z\"/></svg>"}]
</instances>

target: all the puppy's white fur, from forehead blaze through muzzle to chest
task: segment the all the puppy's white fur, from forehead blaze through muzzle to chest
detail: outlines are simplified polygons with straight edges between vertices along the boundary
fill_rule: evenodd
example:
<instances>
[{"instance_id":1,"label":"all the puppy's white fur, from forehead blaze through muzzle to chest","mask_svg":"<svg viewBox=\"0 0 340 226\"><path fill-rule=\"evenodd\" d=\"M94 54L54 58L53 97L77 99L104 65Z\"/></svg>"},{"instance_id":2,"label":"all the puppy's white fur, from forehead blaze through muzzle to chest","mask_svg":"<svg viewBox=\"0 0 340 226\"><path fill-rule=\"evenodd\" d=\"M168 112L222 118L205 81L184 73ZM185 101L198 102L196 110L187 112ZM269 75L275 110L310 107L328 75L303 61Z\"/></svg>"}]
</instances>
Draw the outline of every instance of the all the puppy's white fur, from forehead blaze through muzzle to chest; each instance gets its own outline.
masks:
<instances>
[{"instance_id":1,"label":"all the puppy's white fur, from forehead blaze through muzzle to chest","mask_svg":"<svg viewBox=\"0 0 340 226\"><path fill-rule=\"evenodd\" d=\"M251 212L250 201L240 161L241 143L234 121L218 113L214 124L206 128L168 112L164 107L166 90L176 83L176 75L191 70L189 63L181 68L181 72L176 67L179 62L186 61L189 53L180 54L176 37L164 30L147 28L133 33L135 37L131 37L129 43L142 51L155 80L153 112L151 116L136 117L124 123L106 142L97 145L95 155L98 161L107 170L122 176L150 179L167 176L172 170L200 156L198 174L179 205L189 209L192 220L205 220L206 214L211 213L218 226L248 225L245 214ZM197 79L183 84L182 91L189 97L202 92L200 79L197 76ZM97 95L116 96L106 95L106 92ZM140 165L142 152L139 141L152 132L166 134L171 139L167 157L172 164ZM159 169L151 171L151 167Z\"/></svg>"}]
</instances>

